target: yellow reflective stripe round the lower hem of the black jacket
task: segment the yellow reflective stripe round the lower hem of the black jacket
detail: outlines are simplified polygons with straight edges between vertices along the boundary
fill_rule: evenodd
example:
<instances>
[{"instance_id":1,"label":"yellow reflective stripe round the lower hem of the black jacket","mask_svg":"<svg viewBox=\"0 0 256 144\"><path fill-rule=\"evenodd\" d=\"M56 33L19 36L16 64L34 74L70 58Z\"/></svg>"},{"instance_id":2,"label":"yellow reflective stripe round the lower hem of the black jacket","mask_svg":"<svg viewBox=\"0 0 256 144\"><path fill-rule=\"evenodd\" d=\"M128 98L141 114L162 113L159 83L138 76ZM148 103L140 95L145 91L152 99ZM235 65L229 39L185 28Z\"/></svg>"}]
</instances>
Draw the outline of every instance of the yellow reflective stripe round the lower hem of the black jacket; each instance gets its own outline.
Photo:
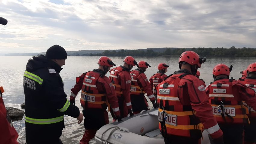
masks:
<instances>
[{"instance_id":1,"label":"yellow reflective stripe round the lower hem of the black jacket","mask_svg":"<svg viewBox=\"0 0 256 144\"><path fill-rule=\"evenodd\" d=\"M25 117L25 121L31 124L54 124L64 120L64 115L57 118L37 119Z\"/></svg>"}]
</instances>

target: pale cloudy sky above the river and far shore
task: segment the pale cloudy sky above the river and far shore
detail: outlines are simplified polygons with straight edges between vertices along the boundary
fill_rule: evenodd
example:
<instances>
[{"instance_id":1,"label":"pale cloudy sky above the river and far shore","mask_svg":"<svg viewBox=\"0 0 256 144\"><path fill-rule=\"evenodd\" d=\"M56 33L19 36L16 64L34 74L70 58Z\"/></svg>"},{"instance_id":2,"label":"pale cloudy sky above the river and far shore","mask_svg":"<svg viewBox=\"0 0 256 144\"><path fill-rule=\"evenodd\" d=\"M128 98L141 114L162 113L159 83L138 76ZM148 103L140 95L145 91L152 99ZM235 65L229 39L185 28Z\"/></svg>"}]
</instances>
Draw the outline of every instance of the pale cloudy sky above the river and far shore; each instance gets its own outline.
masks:
<instances>
[{"instance_id":1,"label":"pale cloudy sky above the river and far shore","mask_svg":"<svg viewBox=\"0 0 256 144\"><path fill-rule=\"evenodd\" d=\"M0 0L0 54L154 47L256 48L254 0Z\"/></svg>"}]
</instances>

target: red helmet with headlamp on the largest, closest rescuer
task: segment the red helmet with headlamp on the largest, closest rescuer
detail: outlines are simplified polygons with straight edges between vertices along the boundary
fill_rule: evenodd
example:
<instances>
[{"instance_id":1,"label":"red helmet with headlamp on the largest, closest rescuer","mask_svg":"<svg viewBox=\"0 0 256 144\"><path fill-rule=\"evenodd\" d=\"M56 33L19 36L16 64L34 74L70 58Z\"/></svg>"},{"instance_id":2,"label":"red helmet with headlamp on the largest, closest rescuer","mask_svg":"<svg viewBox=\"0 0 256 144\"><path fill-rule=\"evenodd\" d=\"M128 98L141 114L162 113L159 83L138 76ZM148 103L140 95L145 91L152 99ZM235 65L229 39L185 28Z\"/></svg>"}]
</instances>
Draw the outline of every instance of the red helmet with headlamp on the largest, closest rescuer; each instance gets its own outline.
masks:
<instances>
[{"instance_id":1,"label":"red helmet with headlamp on the largest, closest rescuer","mask_svg":"<svg viewBox=\"0 0 256 144\"><path fill-rule=\"evenodd\" d=\"M185 51L180 55L179 63L186 62L190 65L197 65L198 68L201 67L201 64L206 61L206 58L200 58L197 53L194 51Z\"/></svg>"}]
</instances>

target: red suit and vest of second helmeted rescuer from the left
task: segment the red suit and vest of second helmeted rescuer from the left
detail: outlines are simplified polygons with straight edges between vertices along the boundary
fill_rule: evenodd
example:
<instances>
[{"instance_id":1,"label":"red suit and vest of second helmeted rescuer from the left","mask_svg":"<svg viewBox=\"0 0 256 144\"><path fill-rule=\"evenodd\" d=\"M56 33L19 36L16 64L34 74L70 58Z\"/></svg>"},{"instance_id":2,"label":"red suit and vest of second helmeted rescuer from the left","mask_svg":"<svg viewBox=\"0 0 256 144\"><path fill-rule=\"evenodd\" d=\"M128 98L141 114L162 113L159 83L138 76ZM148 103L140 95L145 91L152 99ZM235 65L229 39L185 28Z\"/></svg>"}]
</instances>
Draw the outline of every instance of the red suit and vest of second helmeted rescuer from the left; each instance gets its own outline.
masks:
<instances>
[{"instance_id":1,"label":"red suit and vest of second helmeted rescuer from the left","mask_svg":"<svg viewBox=\"0 0 256 144\"><path fill-rule=\"evenodd\" d=\"M109 79L117 94L121 118L124 118L128 115L128 109L132 109L130 71L124 66L118 66L110 70Z\"/></svg>"}]
</instances>

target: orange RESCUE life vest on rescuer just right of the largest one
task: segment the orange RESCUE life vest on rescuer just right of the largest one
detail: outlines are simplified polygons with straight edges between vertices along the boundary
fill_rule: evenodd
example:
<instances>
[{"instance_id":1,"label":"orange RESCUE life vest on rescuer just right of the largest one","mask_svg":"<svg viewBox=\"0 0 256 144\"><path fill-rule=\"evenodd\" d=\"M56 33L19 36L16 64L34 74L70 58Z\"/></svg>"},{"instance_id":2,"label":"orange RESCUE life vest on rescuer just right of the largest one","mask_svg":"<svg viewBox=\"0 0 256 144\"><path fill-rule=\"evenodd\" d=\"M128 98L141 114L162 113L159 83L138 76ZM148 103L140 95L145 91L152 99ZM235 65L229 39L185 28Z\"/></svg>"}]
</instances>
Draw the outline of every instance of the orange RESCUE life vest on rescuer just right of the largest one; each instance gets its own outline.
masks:
<instances>
[{"instance_id":1,"label":"orange RESCUE life vest on rescuer just right of the largest one","mask_svg":"<svg viewBox=\"0 0 256 144\"><path fill-rule=\"evenodd\" d=\"M209 103L212 106L213 114L219 124L236 123L248 124L248 109L243 105L242 101L234 98L232 90L232 79L220 79L214 81L210 86ZM221 109L222 105L224 106ZM220 106L218 110L218 106Z\"/></svg>"}]
</instances>

